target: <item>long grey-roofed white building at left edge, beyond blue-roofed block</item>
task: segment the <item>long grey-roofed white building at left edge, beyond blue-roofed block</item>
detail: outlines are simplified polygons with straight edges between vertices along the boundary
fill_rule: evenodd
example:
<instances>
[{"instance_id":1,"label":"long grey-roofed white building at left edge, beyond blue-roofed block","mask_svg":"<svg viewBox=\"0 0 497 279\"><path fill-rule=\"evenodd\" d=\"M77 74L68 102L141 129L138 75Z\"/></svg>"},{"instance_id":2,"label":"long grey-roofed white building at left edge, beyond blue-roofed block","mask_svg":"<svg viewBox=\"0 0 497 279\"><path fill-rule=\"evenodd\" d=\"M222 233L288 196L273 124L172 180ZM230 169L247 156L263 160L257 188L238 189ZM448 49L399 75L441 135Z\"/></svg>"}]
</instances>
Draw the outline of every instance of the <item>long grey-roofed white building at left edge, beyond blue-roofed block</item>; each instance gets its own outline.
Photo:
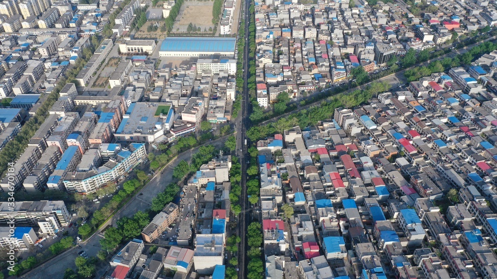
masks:
<instances>
[{"instance_id":1,"label":"long grey-roofed white building at left edge, beyond blue-roofed block","mask_svg":"<svg viewBox=\"0 0 497 279\"><path fill-rule=\"evenodd\" d=\"M13 209L13 210L12 210ZM16 225L37 225L41 218L54 216L59 225L68 225L71 215L64 201L0 202L0 224L13 219Z\"/></svg>"}]
</instances>

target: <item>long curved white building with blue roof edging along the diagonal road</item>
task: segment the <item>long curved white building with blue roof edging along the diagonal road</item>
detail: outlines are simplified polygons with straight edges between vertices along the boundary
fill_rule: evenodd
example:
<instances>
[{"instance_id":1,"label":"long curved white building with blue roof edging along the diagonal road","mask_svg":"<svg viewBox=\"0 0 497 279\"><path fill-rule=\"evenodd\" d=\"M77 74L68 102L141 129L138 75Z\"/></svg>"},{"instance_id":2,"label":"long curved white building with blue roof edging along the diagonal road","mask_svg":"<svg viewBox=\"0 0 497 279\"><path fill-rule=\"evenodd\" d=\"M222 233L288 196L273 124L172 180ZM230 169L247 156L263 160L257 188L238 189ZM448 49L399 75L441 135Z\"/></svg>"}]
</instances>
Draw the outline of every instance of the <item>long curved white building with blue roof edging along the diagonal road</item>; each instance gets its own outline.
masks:
<instances>
[{"instance_id":1,"label":"long curved white building with blue roof edging along the diagonal road","mask_svg":"<svg viewBox=\"0 0 497 279\"><path fill-rule=\"evenodd\" d=\"M147 158L145 144L132 143L101 167L75 171L65 176L64 185L71 193L91 193L108 182L124 178Z\"/></svg>"}]
</instances>

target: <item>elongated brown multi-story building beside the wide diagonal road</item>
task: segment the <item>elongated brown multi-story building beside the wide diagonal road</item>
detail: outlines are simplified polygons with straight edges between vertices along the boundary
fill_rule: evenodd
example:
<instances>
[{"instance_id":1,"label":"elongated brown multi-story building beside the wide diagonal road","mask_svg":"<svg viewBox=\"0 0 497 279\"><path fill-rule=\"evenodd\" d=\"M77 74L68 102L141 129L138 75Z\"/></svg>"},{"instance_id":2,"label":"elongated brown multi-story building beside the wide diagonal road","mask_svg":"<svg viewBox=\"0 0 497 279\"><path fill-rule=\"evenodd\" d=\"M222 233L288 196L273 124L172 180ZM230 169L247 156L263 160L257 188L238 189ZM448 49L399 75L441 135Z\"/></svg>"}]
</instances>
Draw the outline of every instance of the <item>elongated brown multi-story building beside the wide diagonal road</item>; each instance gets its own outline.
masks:
<instances>
[{"instance_id":1,"label":"elongated brown multi-story building beside the wide diagonal road","mask_svg":"<svg viewBox=\"0 0 497 279\"><path fill-rule=\"evenodd\" d=\"M152 243L171 223L176 221L178 216L179 208L177 205L173 203L166 205L166 207L154 217L152 222L142 230L143 241Z\"/></svg>"}]
</instances>

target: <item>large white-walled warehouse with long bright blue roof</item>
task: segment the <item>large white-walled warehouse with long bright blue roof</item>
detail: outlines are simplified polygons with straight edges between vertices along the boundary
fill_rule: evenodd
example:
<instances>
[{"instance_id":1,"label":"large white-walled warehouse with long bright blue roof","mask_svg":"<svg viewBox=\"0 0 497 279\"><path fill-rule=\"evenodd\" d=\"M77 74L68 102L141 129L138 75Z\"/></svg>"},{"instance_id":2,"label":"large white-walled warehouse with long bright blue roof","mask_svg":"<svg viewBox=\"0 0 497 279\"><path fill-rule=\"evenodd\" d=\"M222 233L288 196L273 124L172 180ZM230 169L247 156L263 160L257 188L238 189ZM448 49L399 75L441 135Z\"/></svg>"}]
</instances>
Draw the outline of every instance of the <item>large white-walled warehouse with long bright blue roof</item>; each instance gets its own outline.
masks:
<instances>
[{"instance_id":1,"label":"large white-walled warehouse with long bright blue roof","mask_svg":"<svg viewBox=\"0 0 497 279\"><path fill-rule=\"evenodd\" d=\"M235 56L236 38L168 37L164 39L160 56Z\"/></svg>"}]
</instances>

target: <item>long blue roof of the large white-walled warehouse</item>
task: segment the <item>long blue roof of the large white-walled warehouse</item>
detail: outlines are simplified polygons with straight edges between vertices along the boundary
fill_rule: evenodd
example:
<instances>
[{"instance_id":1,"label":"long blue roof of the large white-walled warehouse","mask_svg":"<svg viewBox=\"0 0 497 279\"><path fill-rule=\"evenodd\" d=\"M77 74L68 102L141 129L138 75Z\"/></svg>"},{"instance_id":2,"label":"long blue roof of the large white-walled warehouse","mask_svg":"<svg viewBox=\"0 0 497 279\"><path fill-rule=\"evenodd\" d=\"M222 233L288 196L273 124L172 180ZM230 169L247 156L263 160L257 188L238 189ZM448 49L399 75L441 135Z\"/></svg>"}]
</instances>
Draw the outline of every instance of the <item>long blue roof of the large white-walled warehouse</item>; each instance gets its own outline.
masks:
<instances>
[{"instance_id":1,"label":"long blue roof of the large white-walled warehouse","mask_svg":"<svg viewBox=\"0 0 497 279\"><path fill-rule=\"evenodd\" d=\"M161 45L162 52L235 52L236 38L168 37Z\"/></svg>"}]
</instances>

